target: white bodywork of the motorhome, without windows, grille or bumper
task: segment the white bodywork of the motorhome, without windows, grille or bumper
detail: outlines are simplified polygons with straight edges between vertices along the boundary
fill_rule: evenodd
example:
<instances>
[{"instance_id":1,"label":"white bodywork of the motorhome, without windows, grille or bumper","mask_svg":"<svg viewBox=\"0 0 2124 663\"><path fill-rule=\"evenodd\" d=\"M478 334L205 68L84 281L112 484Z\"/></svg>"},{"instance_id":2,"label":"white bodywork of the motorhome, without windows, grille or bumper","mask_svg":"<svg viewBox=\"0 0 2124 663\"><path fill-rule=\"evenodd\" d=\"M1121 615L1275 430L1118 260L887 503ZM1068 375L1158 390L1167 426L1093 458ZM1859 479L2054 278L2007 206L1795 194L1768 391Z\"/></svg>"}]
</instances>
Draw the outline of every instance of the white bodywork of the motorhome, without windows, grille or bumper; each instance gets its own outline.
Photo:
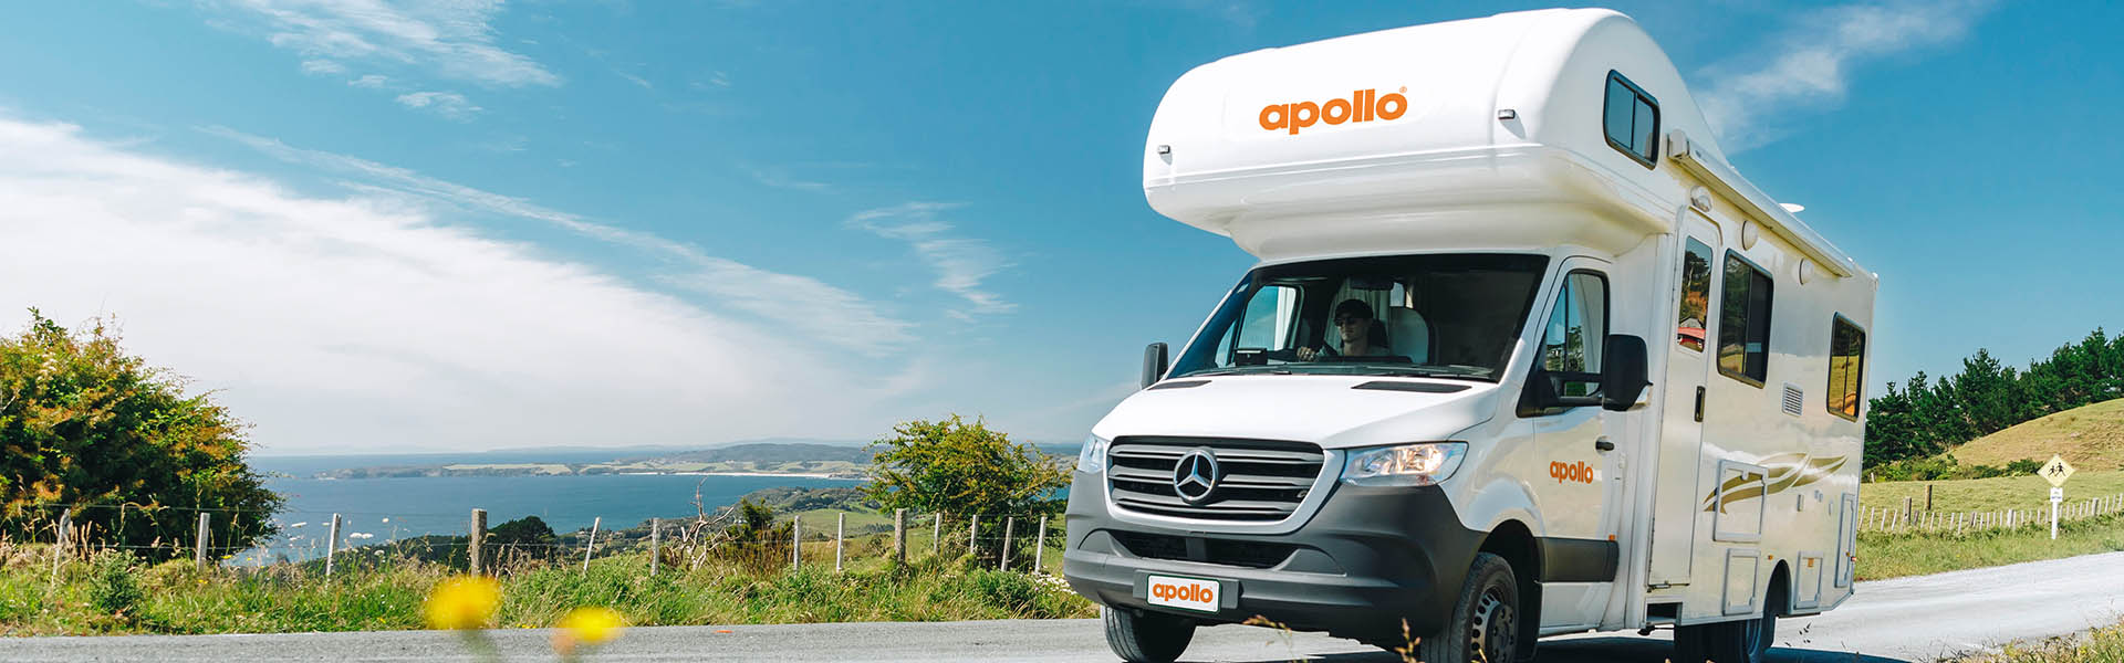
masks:
<instances>
[{"instance_id":1,"label":"white bodywork of the motorhome, without windows, grille or bumper","mask_svg":"<svg viewBox=\"0 0 2124 663\"><path fill-rule=\"evenodd\" d=\"M1604 136L1610 70L1657 98L1661 157L1650 168ZM1393 119L1351 115L1289 132L1270 128L1279 117L1266 110L1385 94L1406 104ZM1166 94L1145 144L1145 196L1160 212L1230 236L1264 264L1540 253L1548 272L1497 382L1393 393L1353 391L1370 378L1349 376L1221 376L1141 391L1094 434L1313 442L1328 450L1321 484L1336 480L1347 448L1466 440L1463 465L1442 484L1463 527L1519 523L1538 538L1618 544L1612 582L1542 589L1542 633L1754 616L1780 567L1791 614L1827 610L1850 595L1863 438L1863 419L1827 408L1831 319L1871 329L1878 283L1731 174L1710 136L1665 53L1608 11L1385 30L1200 66ZM1665 155L1672 144L1686 164ZM1693 196L1708 206L1693 208ZM1716 370L1714 321L1697 332L1710 336L1703 351L1678 348L1689 238L1714 251L1708 317L1720 310L1727 255L1769 272L1763 385ZM1646 340L1652 387L1627 412L1523 416L1514 406L1540 321L1572 270L1606 278L1608 334ZM1801 391L1797 414L1782 408L1786 385ZM1723 493L1720 478L1731 480ZM1300 527L1328 493L1279 523L1109 510L1206 533L1277 533Z\"/></svg>"}]
</instances>

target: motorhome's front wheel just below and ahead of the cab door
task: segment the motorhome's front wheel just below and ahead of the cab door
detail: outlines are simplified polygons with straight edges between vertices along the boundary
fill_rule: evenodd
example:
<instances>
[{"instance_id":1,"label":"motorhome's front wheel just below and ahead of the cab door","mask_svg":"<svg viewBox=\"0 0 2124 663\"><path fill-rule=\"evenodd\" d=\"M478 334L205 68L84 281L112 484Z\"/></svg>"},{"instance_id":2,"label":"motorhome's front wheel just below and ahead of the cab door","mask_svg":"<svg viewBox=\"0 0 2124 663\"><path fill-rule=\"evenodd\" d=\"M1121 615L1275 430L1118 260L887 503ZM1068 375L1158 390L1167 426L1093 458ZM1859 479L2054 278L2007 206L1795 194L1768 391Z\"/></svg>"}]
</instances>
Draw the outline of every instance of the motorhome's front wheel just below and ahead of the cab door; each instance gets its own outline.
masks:
<instances>
[{"instance_id":1,"label":"motorhome's front wheel just below and ahead of the cab door","mask_svg":"<svg viewBox=\"0 0 2124 663\"><path fill-rule=\"evenodd\" d=\"M1531 642L1521 642L1519 578L1504 557L1480 552L1468 567L1446 627L1417 642L1425 663L1519 661Z\"/></svg>"}]
</instances>

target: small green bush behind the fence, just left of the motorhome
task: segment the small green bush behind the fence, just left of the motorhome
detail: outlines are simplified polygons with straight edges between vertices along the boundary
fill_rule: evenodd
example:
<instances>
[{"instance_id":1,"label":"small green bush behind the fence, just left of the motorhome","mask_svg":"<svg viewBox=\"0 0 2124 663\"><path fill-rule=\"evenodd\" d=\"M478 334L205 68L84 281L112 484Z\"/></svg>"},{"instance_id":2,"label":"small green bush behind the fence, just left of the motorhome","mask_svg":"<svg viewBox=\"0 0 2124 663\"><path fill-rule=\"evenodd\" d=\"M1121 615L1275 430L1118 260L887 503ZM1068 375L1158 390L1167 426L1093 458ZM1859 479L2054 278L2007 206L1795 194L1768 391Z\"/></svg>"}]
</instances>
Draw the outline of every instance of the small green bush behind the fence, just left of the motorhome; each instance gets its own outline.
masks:
<instances>
[{"instance_id":1,"label":"small green bush behind the fence, just left of the motorhome","mask_svg":"<svg viewBox=\"0 0 2124 663\"><path fill-rule=\"evenodd\" d=\"M1062 459L1011 442L975 419L907 421L871 444L867 491L884 508L949 514L1032 514L1051 510L1068 487Z\"/></svg>"}]
</instances>

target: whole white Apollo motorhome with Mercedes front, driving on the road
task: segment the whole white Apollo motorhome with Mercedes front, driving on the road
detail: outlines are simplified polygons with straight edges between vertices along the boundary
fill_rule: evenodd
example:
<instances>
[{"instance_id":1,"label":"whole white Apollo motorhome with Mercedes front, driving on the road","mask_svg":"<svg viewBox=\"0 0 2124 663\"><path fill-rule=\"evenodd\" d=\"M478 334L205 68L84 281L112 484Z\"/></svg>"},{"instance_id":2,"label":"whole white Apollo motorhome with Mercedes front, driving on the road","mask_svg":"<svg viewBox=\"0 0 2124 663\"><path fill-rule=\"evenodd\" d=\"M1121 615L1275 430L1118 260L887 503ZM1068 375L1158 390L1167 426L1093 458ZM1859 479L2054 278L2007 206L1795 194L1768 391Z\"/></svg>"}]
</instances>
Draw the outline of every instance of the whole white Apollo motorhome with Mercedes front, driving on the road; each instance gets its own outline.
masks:
<instances>
[{"instance_id":1,"label":"whole white Apollo motorhome with Mercedes front, driving on the road","mask_svg":"<svg viewBox=\"0 0 2124 663\"><path fill-rule=\"evenodd\" d=\"M1429 663L1655 627L1733 663L1850 597L1878 280L1725 162L1629 17L1198 66L1143 191L1262 261L1079 457L1064 576L1124 659L1262 616Z\"/></svg>"}]
</instances>

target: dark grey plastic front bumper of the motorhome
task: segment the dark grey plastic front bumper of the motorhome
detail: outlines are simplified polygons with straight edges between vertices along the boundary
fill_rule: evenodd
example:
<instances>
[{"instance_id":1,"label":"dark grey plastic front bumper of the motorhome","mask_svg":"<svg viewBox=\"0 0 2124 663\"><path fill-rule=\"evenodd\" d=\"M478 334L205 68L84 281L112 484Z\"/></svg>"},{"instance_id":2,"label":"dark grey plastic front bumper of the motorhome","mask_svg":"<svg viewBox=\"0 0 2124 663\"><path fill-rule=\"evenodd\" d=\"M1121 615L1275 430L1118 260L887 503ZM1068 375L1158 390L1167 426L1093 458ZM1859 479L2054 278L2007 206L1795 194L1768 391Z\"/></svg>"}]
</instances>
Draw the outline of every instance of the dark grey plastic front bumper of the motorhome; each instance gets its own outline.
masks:
<instances>
[{"instance_id":1,"label":"dark grey plastic front bumper of the motorhome","mask_svg":"<svg viewBox=\"0 0 2124 663\"><path fill-rule=\"evenodd\" d=\"M1398 640L1444 627L1483 533L1461 527L1438 487L1336 484L1291 533L1217 533L1115 521L1102 474L1075 476L1062 576L1092 601L1240 623L1253 616L1298 631ZM1266 552L1264 552L1266 550ZM1287 550L1287 557L1283 555ZM1151 606L1147 576L1223 582L1219 610Z\"/></svg>"}]
</instances>

